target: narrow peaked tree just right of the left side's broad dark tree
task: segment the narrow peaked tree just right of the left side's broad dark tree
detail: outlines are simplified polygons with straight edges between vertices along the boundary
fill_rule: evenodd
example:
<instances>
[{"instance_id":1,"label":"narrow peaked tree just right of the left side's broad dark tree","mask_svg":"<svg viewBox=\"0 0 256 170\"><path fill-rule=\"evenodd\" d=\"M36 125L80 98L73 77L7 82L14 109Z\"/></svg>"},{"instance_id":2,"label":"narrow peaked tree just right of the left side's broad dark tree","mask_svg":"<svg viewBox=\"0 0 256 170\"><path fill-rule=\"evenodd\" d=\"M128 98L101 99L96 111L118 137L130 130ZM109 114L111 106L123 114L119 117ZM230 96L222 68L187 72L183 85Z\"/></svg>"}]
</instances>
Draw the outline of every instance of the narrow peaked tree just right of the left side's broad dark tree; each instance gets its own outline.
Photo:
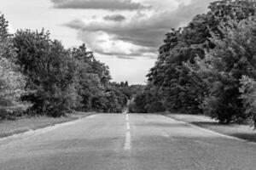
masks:
<instances>
[{"instance_id":1,"label":"narrow peaked tree just right of the left side's broad dark tree","mask_svg":"<svg viewBox=\"0 0 256 170\"><path fill-rule=\"evenodd\" d=\"M76 64L74 86L79 97L75 109L90 111L92 97L100 95L104 88L102 85L104 69L101 68L103 65L96 61L91 52L86 50L84 44L79 48L73 48L71 54Z\"/></svg>"}]
</instances>

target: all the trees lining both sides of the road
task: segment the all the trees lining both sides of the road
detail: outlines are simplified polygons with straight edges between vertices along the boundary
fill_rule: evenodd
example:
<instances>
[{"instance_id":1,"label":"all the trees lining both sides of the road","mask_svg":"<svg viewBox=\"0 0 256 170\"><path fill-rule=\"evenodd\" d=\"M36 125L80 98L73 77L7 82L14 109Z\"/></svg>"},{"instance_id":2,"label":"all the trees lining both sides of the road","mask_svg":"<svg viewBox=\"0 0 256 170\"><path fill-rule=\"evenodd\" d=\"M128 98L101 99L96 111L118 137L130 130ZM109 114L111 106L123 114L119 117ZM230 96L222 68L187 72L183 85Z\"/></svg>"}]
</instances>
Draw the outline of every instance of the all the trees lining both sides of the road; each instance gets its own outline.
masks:
<instances>
[{"instance_id":1,"label":"all the trees lining both sides of the road","mask_svg":"<svg viewBox=\"0 0 256 170\"><path fill-rule=\"evenodd\" d=\"M107 65L49 31L9 34L0 16L0 121L77 112L183 112L256 127L256 2L221 0L166 33L148 84L111 82Z\"/></svg>"}]
</instances>

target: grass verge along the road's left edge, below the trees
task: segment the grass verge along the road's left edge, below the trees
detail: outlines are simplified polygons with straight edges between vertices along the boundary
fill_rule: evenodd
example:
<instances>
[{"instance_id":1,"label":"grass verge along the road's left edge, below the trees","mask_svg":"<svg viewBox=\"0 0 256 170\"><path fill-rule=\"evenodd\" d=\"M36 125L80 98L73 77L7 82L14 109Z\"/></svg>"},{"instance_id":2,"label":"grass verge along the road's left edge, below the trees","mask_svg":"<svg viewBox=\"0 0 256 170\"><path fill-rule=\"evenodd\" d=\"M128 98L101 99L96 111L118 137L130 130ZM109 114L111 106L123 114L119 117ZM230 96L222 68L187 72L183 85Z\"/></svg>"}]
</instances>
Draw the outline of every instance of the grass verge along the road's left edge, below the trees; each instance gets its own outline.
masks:
<instances>
[{"instance_id":1,"label":"grass verge along the road's left edge, below the trees","mask_svg":"<svg viewBox=\"0 0 256 170\"><path fill-rule=\"evenodd\" d=\"M1 121L0 122L0 138L8 137L16 133L25 133L30 130L54 126L63 122L71 122L79 118L90 116L95 112L79 112L77 114L68 115L65 117L48 117L48 116L35 116L23 117L16 121Z\"/></svg>"}]
</instances>

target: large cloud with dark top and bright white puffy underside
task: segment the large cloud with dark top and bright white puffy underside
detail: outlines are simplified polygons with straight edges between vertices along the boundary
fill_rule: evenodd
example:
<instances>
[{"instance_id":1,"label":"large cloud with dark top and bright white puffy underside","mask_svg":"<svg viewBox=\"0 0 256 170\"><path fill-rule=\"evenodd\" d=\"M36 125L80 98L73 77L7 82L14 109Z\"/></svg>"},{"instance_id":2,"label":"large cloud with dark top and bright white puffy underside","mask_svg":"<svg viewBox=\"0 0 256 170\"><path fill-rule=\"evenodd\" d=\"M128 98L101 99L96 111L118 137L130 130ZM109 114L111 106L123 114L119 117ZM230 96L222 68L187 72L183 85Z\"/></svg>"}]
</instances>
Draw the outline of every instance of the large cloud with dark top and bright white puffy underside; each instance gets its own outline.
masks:
<instances>
[{"instance_id":1,"label":"large cloud with dark top and bright white puffy underside","mask_svg":"<svg viewBox=\"0 0 256 170\"><path fill-rule=\"evenodd\" d=\"M157 55L157 50L162 44L165 34L171 28L184 26L196 14L207 12L207 6L211 2L212 0L193 0L190 3L179 4L172 11L151 11L151 13L141 11L123 22L73 20L67 23L66 26L78 30L79 39L87 42L89 46L93 46L92 49L97 50L98 53L152 57L153 54ZM108 46L107 43L97 42L94 39L101 37L102 33L108 35L107 42L112 45ZM94 38L88 39L88 35L93 35ZM102 48L102 46L105 46L105 48ZM119 49L119 52L116 53L113 49ZM129 52L125 52L125 50Z\"/></svg>"}]
</instances>

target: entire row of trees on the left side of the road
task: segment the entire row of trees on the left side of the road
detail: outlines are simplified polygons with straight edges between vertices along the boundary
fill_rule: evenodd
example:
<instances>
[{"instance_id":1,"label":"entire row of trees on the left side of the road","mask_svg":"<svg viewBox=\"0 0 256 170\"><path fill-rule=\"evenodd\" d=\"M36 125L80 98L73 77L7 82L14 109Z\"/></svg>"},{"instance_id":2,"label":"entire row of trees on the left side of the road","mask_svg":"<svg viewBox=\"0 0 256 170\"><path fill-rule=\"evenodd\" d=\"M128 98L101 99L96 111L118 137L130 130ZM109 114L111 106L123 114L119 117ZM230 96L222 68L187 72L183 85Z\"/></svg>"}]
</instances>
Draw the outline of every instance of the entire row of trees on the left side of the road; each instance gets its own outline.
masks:
<instances>
[{"instance_id":1,"label":"entire row of trees on the left side of the road","mask_svg":"<svg viewBox=\"0 0 256 170\"><path fill-rule=\"evenodd\" d=\"M136 88L110 80L108 66L84 44L64 48L44 29L11 35L8 21L0 16L0 120L73 111L122 112Z\"/></svg>"}]
</instances>

